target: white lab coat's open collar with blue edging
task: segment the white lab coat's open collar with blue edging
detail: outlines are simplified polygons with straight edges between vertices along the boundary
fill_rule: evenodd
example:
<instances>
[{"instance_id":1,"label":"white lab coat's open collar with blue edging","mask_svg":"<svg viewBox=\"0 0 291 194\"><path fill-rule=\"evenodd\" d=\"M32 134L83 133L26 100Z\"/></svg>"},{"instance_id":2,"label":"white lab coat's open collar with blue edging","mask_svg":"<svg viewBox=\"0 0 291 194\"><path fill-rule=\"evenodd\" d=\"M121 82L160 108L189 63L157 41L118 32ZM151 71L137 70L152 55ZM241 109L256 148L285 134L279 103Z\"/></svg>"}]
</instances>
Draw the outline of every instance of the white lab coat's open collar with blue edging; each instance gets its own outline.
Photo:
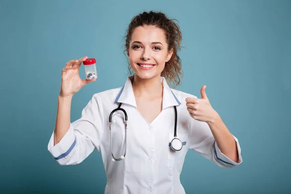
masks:
<instances>
[{"instance_id":1,"label":"white lab coat's open collar with blue edging","mask_svg":"<svg viewBox=\"0 0 291 194\"><path fill-rule=\"evenodd\" d=\"M134 93L132 90L131 81L133 80L133 76L129 77L125 82L124 86L121 88L119 94L117 95L115 102L122 102L126 104L130 104L136 107L136 101L134 97ZM180 101L174 95L171 88L167 84L167 81L164 77L161 77L161 82L163 86L163 96L162 96L162 109L170 107L170 106L178 106L180 105Z\"/></svg>"}]
</instances>

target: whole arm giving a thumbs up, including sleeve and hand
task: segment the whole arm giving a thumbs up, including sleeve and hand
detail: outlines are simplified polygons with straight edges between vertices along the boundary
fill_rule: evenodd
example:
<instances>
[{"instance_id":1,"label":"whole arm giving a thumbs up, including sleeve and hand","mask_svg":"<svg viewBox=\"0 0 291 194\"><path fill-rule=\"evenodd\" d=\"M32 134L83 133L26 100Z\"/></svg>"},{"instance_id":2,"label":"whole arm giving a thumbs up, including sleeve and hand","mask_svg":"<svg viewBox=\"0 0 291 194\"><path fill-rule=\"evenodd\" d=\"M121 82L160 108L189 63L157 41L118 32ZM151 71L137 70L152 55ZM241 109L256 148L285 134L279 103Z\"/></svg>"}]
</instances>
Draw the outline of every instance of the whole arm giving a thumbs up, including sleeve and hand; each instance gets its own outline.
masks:
<instances>
[{"instance_id":1,"label":"whole arm giving a thumbs up, including sleeve and hand","mask_svg":"<svg viewBox=\"0 0 291 194\"><path fill-rule=\"evenodd\" d=\"M187 111L194 118L190 131L195 136L191 137L190 148L220 166L237 166L242 162L239 142L211 107L205 88L201 88L201 99L186 98Z\"/></svg>"}]
</instances>

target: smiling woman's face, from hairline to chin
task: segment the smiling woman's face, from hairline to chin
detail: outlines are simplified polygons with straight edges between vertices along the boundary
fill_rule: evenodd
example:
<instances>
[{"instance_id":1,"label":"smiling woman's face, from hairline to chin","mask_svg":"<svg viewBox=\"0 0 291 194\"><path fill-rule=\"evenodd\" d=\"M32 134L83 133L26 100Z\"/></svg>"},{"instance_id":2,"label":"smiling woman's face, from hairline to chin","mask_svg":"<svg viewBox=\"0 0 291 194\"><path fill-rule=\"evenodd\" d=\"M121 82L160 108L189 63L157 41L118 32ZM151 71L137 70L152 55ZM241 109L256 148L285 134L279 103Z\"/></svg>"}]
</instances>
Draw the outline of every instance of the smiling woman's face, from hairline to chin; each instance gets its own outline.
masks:
<instances>
[{"instance_id":1,"label":"smiling woman's face, from hairline to chin","mask_svg":"<svg viewBox=\"0 0 291 194\"><path fill-rule=\"evenodd\" d=\"M136 27L129 42L129 64L141 79L160 77L165 63L171 59L164 31L155 26Z\"/></svg>"}]
</instances>

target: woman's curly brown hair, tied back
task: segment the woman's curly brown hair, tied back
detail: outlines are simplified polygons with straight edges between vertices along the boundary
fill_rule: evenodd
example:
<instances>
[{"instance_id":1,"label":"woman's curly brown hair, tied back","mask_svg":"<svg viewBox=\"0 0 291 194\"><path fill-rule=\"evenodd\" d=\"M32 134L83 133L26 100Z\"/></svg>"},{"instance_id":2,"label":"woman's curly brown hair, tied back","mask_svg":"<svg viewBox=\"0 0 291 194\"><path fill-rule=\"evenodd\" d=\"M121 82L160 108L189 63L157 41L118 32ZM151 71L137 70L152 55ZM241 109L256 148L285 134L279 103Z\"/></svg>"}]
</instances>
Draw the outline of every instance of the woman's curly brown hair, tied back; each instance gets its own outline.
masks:
<instances>
[{"instance_id":1,"label":"woman's curly brown hair, tied back","mask_svg":"<svg viewBox=\"0 0 291 194\"><path fill-rule=\"evenodd\" d=\"M178 50L183 48L181 44L182 33L180 32L179 25L175 22L177 19L169 19L162 12L149 13L143 12L131 19L129 28L126 30L124 54L129 53L129 42L133 30L139 26L156 26L165 32L165 37L168 43L168 51L173 49L173 55L171 59L165 63L165 67L161 76L164 77L168 84L175 88L182 81L181 59L178 55ZM127 53L126 53L127 52ZM132 69L128 66L129 74L132 75Z\"/></svg>"}]
</instances>

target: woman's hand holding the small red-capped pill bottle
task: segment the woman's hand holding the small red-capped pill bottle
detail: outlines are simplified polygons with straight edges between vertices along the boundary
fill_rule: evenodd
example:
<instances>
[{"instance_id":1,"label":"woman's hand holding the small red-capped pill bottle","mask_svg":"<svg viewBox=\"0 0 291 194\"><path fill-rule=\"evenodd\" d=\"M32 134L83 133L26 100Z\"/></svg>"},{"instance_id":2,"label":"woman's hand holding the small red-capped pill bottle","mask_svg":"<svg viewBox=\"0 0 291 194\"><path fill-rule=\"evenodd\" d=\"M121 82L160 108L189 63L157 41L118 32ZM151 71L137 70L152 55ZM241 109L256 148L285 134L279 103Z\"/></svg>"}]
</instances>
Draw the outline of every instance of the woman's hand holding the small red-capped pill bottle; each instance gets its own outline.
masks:
<instances>
[{"instance_id":1,"label":"woman's hand holding the small red-capped pill bottle","mask_svg":"<svg viewBox=\"0 0 291 194\"><path fill-rule=\"evenodd\" d=\"M94 80L82 80L79 75L79 69L83 61L88 57L82 57L79 60L71 60L66 63L62 70L62 82L60 97L73 97L84 85Z\"/></svg>"}]
</instances>

